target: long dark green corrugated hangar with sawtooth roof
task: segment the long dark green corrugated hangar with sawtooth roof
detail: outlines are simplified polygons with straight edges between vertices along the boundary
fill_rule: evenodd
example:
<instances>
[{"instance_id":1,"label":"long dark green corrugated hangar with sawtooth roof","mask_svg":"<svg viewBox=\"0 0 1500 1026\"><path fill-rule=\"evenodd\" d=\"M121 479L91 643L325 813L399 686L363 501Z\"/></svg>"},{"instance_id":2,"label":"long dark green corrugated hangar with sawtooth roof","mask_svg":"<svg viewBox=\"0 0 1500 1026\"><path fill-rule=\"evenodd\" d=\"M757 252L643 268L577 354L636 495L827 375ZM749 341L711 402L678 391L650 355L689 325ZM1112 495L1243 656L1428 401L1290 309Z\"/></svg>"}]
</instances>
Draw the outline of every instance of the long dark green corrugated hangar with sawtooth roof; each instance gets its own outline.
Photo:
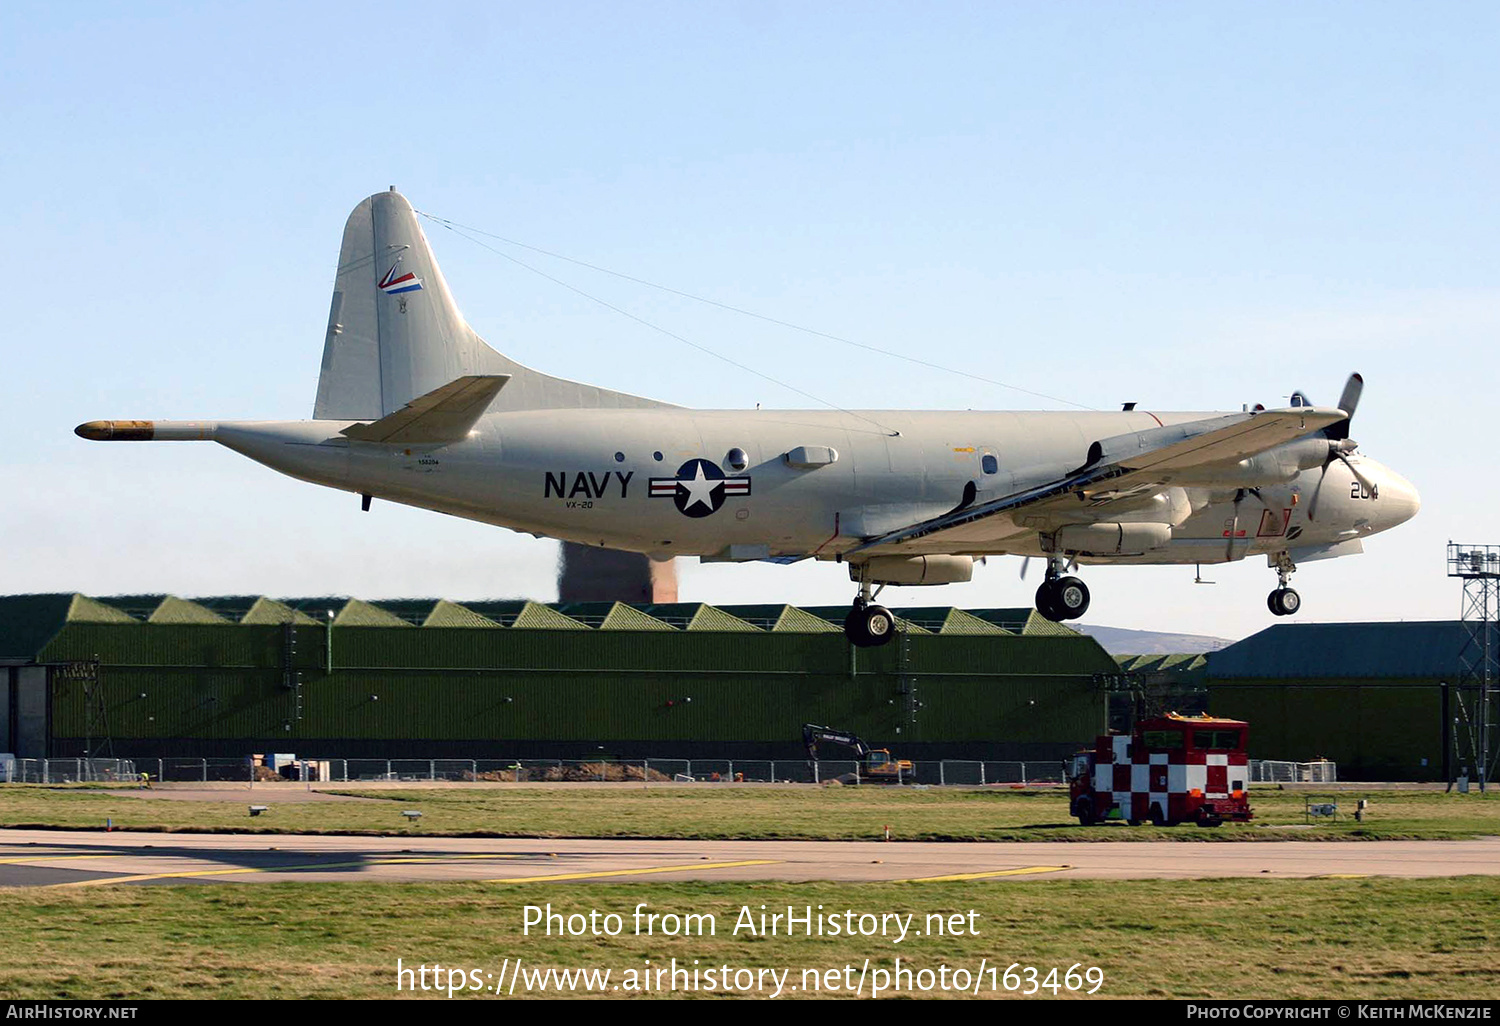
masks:
<instances>
[{"instance_id":1,"label":"long dark green corrugated hangar with sawtooth roof","mask_svg":"<svg viewBox=\"0 0 1500 1026\"><path fill-rule=\"evenodd\" d=\"M796 759L802 723L910 759L1062 759L1118 663L1030 609L0 597L21 758Z\"/></svg>"}]
</instances>

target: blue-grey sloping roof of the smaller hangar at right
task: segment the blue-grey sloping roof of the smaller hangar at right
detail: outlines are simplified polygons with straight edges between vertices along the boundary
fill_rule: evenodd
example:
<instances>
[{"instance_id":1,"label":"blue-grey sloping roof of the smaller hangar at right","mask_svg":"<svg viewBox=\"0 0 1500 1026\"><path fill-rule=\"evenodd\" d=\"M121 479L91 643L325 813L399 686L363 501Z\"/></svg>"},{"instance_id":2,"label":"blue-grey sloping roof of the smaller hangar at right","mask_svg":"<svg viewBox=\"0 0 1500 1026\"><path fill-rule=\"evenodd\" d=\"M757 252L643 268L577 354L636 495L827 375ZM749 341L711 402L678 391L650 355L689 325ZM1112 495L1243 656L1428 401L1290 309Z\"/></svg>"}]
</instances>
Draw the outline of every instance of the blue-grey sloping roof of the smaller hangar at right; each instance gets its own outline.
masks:
<instances>
[{"instance_id":1,"label":"blue-grey sloping roof of the smaller hangar at right","mask_svg":"<svg viewBox=\"0 0 1500 1026\"><path fill-rule=\"evenodd\" d=\"M1467 639L1468 628L1455 620L1276 624L1210 652L1209 676L1215 681L1456 680Z\"/></svg>"}]
</instances>

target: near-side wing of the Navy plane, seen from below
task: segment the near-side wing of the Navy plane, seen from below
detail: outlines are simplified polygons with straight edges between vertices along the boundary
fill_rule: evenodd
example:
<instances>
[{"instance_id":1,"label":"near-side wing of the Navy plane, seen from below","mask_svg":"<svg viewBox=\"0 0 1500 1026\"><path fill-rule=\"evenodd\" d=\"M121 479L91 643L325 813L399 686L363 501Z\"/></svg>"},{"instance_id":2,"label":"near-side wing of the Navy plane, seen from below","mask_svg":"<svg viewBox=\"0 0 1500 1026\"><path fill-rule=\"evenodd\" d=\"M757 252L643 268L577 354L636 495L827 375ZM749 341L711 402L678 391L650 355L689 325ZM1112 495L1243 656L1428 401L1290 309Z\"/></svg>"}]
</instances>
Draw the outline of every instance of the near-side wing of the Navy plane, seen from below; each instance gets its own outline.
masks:
<instances>
[{"instance_id":1,"label":"near-side wing of the Navy plane, seen from below","mask_svg":"<svg viewBox=\"0 0 1500 1026\"><path fill-rule=\"evenodd\" d=\"M962 546L972 540L969 536L974 532L964 530L969 525L1018 512L1076 508L1080 522L1098 520L1104 514L1100 507L1118 498L1152 494L1186 471L1228 465L1347 418L1342 410L1293 406L1208 417L1104 438L1089 447L1080 468L1058 480L867 538L844 555L892 550L918 538L952 538Z\"/></svg>"}]
</instances>

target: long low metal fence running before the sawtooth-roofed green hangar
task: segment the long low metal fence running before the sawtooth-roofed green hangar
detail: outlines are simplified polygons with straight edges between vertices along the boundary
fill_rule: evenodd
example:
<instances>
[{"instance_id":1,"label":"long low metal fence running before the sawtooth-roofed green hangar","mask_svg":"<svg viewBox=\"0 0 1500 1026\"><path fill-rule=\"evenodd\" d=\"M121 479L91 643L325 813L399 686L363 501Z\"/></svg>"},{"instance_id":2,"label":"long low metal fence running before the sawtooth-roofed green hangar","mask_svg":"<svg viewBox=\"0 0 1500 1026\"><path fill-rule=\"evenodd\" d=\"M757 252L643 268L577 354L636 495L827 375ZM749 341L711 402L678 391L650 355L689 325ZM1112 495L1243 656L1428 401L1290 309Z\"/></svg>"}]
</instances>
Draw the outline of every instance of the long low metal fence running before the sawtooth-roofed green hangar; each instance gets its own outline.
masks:
<instances>
[{"instance_id":1,"label":"long low metal fence running before the sawtooth-roofed green hangar","mask_svg":"<svg viewBox=\"0 0 1500 1026\"><path fill-rule=\"evenodd\" d=\"M296 759L279 768L248 759L15 759L0 764L6 783L100 782L309 783L898 783L920 786L1030 786L1066 782L1060 762L933 759L872 774L850 759Z\"/></svg>"}]
</instances>

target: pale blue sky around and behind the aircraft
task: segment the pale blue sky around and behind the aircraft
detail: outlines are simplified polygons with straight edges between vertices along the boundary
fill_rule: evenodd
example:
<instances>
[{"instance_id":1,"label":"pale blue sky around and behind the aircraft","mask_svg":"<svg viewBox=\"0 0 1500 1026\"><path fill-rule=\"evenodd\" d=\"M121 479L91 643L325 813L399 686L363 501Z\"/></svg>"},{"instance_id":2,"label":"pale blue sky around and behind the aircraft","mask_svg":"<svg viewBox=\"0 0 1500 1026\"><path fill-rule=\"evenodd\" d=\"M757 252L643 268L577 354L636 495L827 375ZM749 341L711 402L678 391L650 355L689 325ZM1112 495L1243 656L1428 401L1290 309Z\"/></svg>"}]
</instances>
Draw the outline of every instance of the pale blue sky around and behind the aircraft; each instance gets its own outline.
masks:
<instances>
[{"instance_id":1,"label":"pale blue sky around and behind the aircraft","mask_svg":"<svg viewBox=\"0 0 1500 1026\"><path fill-rule=\"evenodd\" d=\"M1458 610L1500 542L1494 4L0 6L9 240L0 591L554 596L555 546L298 484L99 417L310 414L348 210L486 231L1112 408L1293 388L1422 492L1308 564L1302 618ZM440 228L453 291L540 369L800 406ZM519 254L518 254L519 255ZM524 255L840 406L1059 408ZM912 604L1023 604L990 561ZM831 566L680 568L686 598L842 603ZM1089 620L1242 636L1263 561L1098 568Z\"/></svg>"}]
</instances>

